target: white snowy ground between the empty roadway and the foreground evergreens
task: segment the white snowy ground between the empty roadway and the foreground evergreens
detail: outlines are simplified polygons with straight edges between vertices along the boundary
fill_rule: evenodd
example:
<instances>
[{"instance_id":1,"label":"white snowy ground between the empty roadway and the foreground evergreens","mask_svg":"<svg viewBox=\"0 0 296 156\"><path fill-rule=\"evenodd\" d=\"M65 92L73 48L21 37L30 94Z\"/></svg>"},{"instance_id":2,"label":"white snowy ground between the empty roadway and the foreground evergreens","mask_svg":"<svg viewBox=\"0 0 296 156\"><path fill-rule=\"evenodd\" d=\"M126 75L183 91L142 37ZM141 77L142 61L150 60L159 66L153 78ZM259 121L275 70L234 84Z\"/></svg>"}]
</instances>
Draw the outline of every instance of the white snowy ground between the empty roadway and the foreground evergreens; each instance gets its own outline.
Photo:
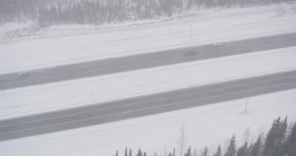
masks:
<instances>
[{"instance_id":1,"label":"white snowy ground between the empty roadway and the foreground evergreens","mask_svg":"<svg viewBox=\"0 0 296 156\"><path fill-rule=\"evenodd\" d=\"M176 147L180 127L185 123L187 140L193 149L206 145L210 152L218 144L222 148L233 133L237 146L243 141L244 131L250 127L249 141L255 141L260 132L267 132L272 120L288 115L296 121L296 89L250 97L248 111L244 113L246 98L211 105L128 119L84 128L48 133L38 136L1 141L2 155L58 156L123 155L125 146L134 151L141 147L152 156L155 151ZM218 130L219 129L219 130Z\"/></svg>"}]
</instances>

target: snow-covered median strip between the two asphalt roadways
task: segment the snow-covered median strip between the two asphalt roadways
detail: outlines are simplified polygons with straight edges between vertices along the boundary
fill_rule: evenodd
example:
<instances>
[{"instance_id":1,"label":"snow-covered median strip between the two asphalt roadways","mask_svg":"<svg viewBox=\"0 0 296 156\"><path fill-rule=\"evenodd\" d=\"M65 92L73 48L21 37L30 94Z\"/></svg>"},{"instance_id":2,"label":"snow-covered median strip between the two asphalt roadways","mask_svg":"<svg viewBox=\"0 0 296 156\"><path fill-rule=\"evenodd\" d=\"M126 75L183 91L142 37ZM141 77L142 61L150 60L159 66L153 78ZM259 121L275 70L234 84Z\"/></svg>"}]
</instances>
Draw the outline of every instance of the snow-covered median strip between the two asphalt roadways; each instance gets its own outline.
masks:
<instances>
[{"instance_id":1,"label":"snow-covered median strip between the two asphalt roadways","mask_svg":"<svg viewBox=\"0 0 296 156\"><path fill-rule=\"evenodd\" d=\"M296 46L0 91L0 119L296 69Z\"/></svg>"}]
</instances>

